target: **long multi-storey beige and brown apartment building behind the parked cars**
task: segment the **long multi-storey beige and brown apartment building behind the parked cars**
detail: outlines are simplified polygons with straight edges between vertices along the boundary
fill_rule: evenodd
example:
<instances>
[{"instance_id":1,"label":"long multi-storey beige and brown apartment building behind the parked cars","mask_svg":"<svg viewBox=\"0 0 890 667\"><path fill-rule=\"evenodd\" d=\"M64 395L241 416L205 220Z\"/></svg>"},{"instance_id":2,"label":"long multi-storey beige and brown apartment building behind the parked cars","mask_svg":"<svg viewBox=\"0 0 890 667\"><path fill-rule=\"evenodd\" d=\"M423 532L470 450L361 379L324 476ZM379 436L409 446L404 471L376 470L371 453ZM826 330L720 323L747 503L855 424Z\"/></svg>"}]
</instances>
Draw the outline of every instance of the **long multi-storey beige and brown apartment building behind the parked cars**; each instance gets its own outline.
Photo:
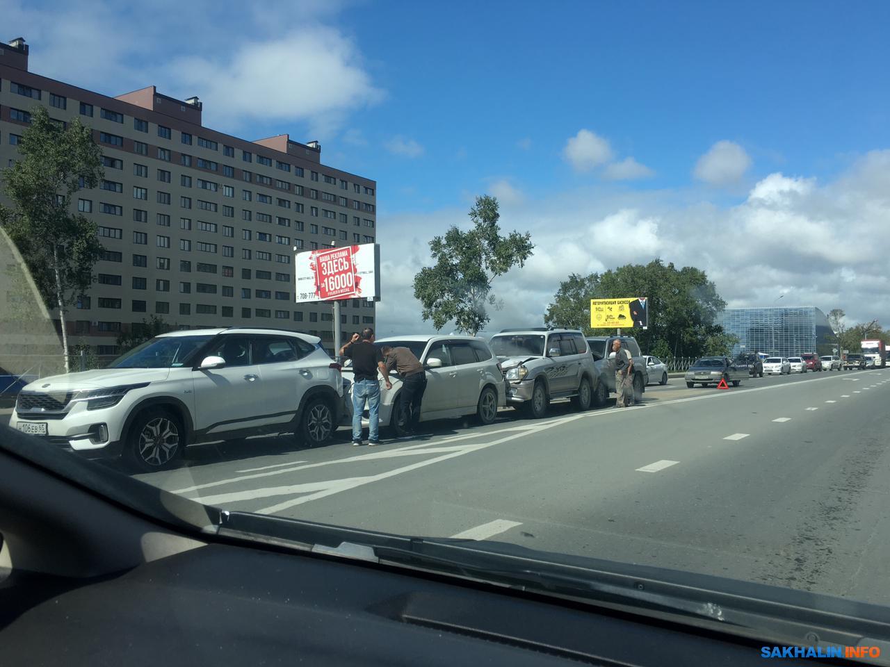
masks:
<instances>
[{"instance_id":1,"label":"long multi-storey beige and brown apartment building behind the parked cars","mask_svg":"<svg viewBox=\"0 0 890 667\"><path fill-rule=\"evenodd\" d=\"M295 303L294 248L374 242L375 181L322 165L317 141L206 128L197 97L153 85L107 97L39 76L21 38L0 44L0 167L17 159L36 105L60 123L79 118L102 150L104 180L72 204L105 248L93 288L68 311L73 342L117 354L118 333L153 314L180 328L303 331L333 347L331 304ZM373 302L343 306L344 340L374 324Z\"/></svg>"}]
</instances>

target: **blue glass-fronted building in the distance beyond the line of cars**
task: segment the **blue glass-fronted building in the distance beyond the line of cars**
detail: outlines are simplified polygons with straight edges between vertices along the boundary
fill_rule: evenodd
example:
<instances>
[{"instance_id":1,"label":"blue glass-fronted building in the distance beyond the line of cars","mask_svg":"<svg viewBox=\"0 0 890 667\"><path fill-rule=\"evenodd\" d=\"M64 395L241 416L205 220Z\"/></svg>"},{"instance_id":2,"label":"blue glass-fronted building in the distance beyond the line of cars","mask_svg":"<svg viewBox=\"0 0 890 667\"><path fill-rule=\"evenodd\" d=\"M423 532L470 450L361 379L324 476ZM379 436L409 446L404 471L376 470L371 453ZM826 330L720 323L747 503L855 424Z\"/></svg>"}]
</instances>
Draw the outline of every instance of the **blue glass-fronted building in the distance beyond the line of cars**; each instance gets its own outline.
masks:
<instances>
[{"instance_id":1,"label":"blue glass-fronted building in the distance beyond the line of cars","mask_svg":"<svg viewBox=\"0 0 890 667\"><path fill-rule=\"evenodd\" d=\"M802 352L831 354L834 333L828 318L814 306L800 308L730 308L717 316L724 331L734 333L740 351L797 357Z\"/></svg>"}]
</instances>

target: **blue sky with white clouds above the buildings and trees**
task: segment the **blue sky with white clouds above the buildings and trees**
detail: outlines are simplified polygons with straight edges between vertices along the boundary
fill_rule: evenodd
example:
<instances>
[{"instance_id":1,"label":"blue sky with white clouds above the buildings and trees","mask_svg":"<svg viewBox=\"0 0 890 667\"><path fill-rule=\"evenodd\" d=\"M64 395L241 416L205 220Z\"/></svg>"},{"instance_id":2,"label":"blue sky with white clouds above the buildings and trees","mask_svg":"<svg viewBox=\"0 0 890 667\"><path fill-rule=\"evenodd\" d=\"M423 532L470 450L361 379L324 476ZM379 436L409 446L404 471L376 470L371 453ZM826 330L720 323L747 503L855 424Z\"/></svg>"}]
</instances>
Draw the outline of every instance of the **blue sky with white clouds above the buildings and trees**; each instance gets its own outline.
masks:
<instances>
[{"instance_id":1,"label":"blue sky with white clouds above the buildings and trees","mask_svg":"<svg viewBox=\"0 0 890 667\"><path fill-rule=\"evenodd\" d=\"M708 270L731 305L782 293L890 325L885 254L840 247L890 230L890 4L0 0L0 16L39 73L197 94L207 125L319 139L324 162L376 179L393 330L427 326L411 277L482 192L538 244L499 281L496 325L539 322L570 270L655 256Z\"/></svg>"}]
</instances>

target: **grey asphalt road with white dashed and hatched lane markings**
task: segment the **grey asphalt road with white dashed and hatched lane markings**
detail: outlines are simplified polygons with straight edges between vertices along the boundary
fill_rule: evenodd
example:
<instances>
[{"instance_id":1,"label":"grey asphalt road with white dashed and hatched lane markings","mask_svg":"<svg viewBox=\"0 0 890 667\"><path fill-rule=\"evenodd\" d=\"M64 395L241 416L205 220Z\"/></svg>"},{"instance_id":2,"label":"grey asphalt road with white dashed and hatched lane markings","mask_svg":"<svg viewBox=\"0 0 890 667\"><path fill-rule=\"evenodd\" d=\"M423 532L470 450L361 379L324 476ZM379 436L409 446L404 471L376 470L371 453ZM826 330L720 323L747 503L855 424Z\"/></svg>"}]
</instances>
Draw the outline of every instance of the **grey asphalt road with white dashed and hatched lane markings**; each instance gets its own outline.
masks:
<instances>
[{"instance_id":1,"label":"grey asphalt road with white dashed and hatched lane markings","mask_svg":"<svg viewBox=\"0 0 890 667\"><path fill-rule=\"evenodd\" d=\"M890 369L646 390L642 406L353 447L192 447L139 476L230 510L514 542L890 604Z\"/></svg>"}]
</instances>

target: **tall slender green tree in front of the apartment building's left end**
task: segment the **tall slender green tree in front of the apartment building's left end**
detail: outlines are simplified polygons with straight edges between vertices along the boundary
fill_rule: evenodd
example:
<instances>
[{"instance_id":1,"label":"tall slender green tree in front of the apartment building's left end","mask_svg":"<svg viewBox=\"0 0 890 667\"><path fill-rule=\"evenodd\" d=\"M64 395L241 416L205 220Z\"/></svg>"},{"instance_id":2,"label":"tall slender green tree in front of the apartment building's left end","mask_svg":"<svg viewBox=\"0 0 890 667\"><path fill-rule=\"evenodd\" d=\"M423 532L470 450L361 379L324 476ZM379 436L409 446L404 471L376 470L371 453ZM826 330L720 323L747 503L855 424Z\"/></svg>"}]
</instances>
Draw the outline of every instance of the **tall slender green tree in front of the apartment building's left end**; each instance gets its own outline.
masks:
<instances>
[{"instance_id":1,"label":"tall slender green tree in front of the apartment building's left end","mask_svg":"<svg viewBox=\"0 0 890 667\"><path fill-rule=\"evenodd\" d=\"M2 174L12 209L0 207L0 224L19 248L47 306L59 309L69 372L66 307L92 285L102 250L95 223L72 213L71 201L80 189L99 184L101 150L78 118L64 127L45 108L35 107L19 155Z\"/></svg>"}]
</instances>

